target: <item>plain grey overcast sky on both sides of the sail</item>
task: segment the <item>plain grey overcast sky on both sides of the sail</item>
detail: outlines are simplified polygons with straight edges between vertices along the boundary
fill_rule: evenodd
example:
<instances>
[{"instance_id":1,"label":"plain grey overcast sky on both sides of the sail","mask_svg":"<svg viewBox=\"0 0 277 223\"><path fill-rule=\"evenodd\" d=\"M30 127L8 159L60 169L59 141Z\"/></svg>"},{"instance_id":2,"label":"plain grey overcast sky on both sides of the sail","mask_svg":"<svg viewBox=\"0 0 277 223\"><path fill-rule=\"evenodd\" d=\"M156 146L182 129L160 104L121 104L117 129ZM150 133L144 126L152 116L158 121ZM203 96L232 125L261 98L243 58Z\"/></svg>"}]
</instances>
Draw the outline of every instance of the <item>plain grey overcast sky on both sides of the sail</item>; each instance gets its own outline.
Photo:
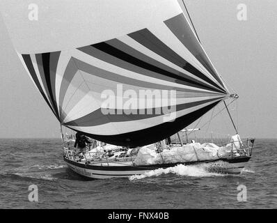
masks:
<instances>
[{"instance_id":1,"label":"plain grey overcast sky on both sides of the sail","mask_svg":"<svg viewBox=\"0 0 277 223\"><path fill-rule=\"evenodd\" d=\"M239 133L277 138L277 1L186 3L209 58L239 94ZM246 21L237 20L239 3L247 6ZM26 74L1 17L0 33L0 137L59 137L59 123ZM230 110L237 123L235 107ZM209 128L234 132L226 112Z\"/></svg>"}]
</instances>

